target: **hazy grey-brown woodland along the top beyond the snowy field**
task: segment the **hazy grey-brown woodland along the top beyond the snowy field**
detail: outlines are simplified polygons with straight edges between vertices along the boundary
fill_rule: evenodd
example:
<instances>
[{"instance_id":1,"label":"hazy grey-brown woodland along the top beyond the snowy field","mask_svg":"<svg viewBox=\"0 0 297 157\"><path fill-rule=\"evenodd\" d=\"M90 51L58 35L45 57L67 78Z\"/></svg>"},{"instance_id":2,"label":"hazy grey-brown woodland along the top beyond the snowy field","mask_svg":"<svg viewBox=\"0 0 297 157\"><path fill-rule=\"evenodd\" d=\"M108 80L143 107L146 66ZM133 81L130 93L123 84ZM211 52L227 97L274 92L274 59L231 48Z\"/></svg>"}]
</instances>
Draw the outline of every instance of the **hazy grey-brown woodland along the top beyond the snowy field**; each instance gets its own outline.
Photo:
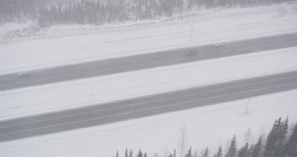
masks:
<instances>
[{"instance_id":1,"label":"hazy grey-brown woodland along the top beyond the snowy field","mask_svg":"<svg viewBox=\"0 0 297 157\"><path fill-rule=\"evenodd\" d=\"M293 0L0 0L0 24L33 20L41 26L123 23L214 7L250 7Z\"/></svg>"}]
</instances>

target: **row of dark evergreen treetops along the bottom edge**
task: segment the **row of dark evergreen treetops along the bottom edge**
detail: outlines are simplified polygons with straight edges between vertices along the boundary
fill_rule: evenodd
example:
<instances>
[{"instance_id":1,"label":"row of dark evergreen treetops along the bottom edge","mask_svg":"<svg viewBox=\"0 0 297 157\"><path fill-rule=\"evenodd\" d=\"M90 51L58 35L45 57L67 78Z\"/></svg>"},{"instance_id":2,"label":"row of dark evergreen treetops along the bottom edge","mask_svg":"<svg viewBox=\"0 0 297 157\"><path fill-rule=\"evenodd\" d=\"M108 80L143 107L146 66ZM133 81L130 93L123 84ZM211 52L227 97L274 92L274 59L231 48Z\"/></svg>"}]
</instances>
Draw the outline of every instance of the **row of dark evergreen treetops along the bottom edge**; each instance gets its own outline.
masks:
<instances>
[{"instance_id":1,"label":"row of dark evergreen treetops along the bottom edge","mask_svg":"<svg viewBox=\"0 0 297 157\"><path fill-rule=\"evenodd\" d=\"M183 137L181 137L183 139ZM289 129L288 118L284 121L279 118L274 121L272 129L267 136L259 137L256 143L250 145L246 142L243 147L238 148L236 142L236 136L231 140L229 147L226 151L222 146L219 146L216 152L210 153L210 150L206 149L202 151L193 150L189 147L185 154L177 154L176 150L185 149L185 145L179 142L179 148L174 149L172 152L164 151L167 157L297 157L297 123ZM150 155L158 157L157 153ZM160 155L164 156L164 154ZM116 157L147 157L145 152L141 149L138 150L136 156L133 156L133 150L126 148L125 154L119 155L116 152Z\"/></svg>"}]
</instances>

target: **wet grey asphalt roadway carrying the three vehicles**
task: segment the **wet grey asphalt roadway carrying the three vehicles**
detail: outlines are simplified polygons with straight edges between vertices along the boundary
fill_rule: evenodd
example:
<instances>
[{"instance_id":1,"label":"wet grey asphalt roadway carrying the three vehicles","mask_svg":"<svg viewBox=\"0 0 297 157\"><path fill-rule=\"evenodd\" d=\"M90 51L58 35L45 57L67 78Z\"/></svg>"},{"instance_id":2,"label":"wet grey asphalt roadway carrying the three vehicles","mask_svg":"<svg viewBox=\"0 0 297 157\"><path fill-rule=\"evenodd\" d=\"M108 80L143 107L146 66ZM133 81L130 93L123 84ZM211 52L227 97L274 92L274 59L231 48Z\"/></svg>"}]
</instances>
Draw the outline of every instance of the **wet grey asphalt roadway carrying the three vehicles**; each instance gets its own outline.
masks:
<instances>
[{"instance_id":1,"label":"wet grey asphalt roadway carrying the three vehicles","mask_svg":"<svg viewBox=\"0 0 297 157\"><path fill-rule=\"evenodd\" d=\"M19 77L17 73L1 75L0 91L158 66L174 65L204 59L287 48L297 46L296 41L297 34L288 34L230 42L226 43L226 45L222 47L206 45L194 48L177 49L158 53L58 66L55 68L31 71L32 73L29 76ZM185 56L184 53L188 50L196 50L198 53L193 56Z\"/></svg>"}]
</instances>

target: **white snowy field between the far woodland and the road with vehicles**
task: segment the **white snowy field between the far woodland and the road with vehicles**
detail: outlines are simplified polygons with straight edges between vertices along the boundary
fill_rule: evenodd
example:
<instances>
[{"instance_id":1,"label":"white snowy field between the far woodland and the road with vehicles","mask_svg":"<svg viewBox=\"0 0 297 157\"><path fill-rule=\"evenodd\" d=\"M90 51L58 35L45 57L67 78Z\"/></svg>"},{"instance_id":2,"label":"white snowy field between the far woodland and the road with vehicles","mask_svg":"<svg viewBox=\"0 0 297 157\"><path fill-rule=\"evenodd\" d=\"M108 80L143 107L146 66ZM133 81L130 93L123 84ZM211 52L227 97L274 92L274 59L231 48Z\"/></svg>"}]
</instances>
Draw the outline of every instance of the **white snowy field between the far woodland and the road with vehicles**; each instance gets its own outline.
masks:
<instances>
[{"instance_id":1,"label":"white snowy field between the far woodland and the road with vehicles","mask_svg":"<svg viewBox=\"0 0 297 157\"><path fill-rule=\"evenodd\" d=\"M296 5L280 5L196 13L193 14L192 41L192 17L189 15L147 24L103 27L99 31L95 29L93 33L90 28L92 26L82 26L81 29L80 26L55 26L46 29L42 38L34 39L33 36L32 39L24 38L15 42L0 40L0 74L213 44L218 41L293 33L297 32L296 8ZM30 23L24 24L24 27L27 25ZM8 33L5 32L8 26L0 27L2 35ZM79 30L82 35L71 36L71 30ZM46 38L50 35L53 37Z\"/></svg>"}]
</instances>

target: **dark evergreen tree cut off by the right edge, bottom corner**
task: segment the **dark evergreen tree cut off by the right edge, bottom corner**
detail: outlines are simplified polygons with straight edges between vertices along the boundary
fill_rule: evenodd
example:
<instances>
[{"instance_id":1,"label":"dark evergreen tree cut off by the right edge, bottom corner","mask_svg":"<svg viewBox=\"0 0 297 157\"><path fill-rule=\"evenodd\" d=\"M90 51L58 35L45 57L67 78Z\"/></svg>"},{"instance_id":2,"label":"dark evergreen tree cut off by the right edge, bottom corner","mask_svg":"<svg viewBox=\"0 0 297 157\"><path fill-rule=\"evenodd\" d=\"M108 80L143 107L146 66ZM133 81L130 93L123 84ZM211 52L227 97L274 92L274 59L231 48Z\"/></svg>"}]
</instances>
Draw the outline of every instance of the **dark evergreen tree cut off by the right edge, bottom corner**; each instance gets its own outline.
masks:
<instances>
[{"instance_id":1,"label":"dark evergreen tree cut off by the right edge, bottom corner","mask_svg":"<svg viewBox=\"0 0 297 157\"><path fill-rule=\"evenodd\" d=\"M293 131L289 136L285 152L290 157L297 157L297 123L294 125Z\"/></svg>"}]
</instances>

